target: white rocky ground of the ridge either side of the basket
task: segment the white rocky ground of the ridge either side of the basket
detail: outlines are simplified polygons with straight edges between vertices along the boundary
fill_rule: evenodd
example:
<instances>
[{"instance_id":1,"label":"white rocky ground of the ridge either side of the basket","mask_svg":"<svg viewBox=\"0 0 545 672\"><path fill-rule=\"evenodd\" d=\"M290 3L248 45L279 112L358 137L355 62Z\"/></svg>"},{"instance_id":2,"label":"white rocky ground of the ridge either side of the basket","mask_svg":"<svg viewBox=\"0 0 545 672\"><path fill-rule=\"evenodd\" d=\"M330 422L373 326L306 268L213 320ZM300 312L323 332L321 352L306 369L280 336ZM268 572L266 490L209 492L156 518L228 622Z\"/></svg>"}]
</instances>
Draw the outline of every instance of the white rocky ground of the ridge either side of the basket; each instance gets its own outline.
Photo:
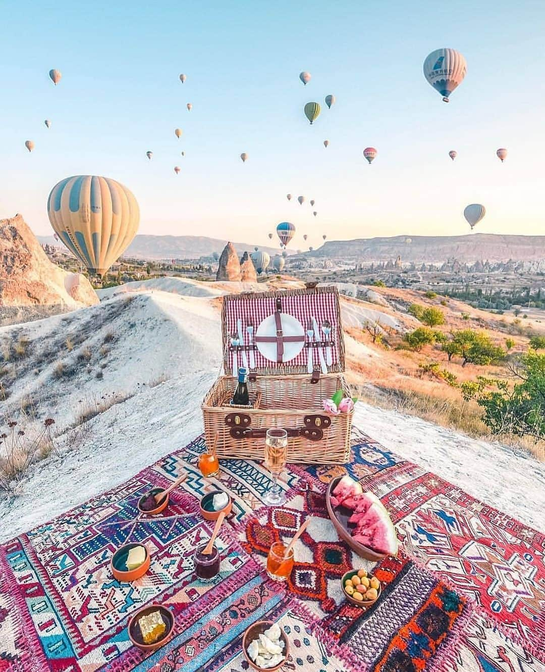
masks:
<instances>
[{"instance_id":1,"label":"white rocky ground of the ridge either side of the basket","mask_svg":"<svg viewBox=\"0 0 545 672\"><path fill-rule=\"evenodd\" d=\"M19 495L0 501L0 542L127 480L201 433L200 403L221 365L216 297L229 285L172 281L107 291L99 306L0 329L0 339L22 329L31 341L9 407L32 394L42 419L54 417L60 432L58 450L32 468ZM355 322L354 310L350 306ZM66 336L81 342L68 351ZM346 345L349 351L361 347L353 339ZM70 373L57 378L59 361ZM82 407L113 392L132 396L70 429ZM385 448L545 529L544 464L364 403L358 403L354 422Z\"/></svg>"}]
</instances>

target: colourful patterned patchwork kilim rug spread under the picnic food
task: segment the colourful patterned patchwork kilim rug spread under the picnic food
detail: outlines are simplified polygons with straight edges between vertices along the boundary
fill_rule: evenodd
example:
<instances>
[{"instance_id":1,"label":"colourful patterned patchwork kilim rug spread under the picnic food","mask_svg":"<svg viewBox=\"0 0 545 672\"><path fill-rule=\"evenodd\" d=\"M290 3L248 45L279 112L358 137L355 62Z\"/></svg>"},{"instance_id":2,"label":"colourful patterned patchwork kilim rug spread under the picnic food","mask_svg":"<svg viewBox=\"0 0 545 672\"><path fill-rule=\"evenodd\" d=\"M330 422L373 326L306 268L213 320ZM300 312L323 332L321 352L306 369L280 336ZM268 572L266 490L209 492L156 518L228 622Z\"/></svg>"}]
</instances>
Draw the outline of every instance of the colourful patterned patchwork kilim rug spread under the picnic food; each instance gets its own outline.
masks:
<instances>
[{"instance_id":1,"label":"colourful patterned patchwork kilim rug spread under the picnic food","mask_svg":"<svg viewBox=\"0 0 545 672\"><path fill-rule=\"evenodd\" d=\"M224 461L217 485L234 499L219 537L221 573L195 581L193 552L211 525L198 502L199 437L128 482L0 546L0 672L235 672L256 620L278 620L290 640L283 669L301 672L538 672L545 669L544 536L448 482L354 435L346 467L291 466L287 505L262 506L268 472ZM156 517L138 515L149 485L189 478ZM377 566L341 544L324 507L331 478L348 471L382 497L403 550ZM287 585L263 571L272 540L305 516ZM120 583L109 562L121 544L151 553L142 579ZM372 569L382 595L368 612L342 601L339 577ZM150 654L131 645L128 619L160 601L175 614L170 641Z\"/></svg>"}]
</instances>

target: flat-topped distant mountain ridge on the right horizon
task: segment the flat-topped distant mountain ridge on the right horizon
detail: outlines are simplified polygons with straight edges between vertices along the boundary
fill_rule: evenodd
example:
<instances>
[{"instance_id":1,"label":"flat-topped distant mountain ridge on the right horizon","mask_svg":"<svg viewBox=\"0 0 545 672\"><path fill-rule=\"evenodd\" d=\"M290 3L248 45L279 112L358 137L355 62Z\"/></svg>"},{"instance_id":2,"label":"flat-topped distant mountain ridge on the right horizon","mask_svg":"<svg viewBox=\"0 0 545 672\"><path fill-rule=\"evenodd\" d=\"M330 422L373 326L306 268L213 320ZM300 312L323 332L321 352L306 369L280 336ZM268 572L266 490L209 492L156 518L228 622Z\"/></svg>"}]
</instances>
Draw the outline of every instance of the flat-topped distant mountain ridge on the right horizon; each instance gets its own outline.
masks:
<instances>
[{"instance_id":1,"label":"flat-topped distant mountain ridge on the right horizon","mask_svg":"<svg viewBox=\"0 0 545 672\"><path fill-rule=\"evenodd\" d=\"M393 236L352 241L328 241L306 256L348 261L401 261L437 263L458 261L538 261L545 258L545 236L474 233L464 236Z\"/></svg>"}]
</instances>

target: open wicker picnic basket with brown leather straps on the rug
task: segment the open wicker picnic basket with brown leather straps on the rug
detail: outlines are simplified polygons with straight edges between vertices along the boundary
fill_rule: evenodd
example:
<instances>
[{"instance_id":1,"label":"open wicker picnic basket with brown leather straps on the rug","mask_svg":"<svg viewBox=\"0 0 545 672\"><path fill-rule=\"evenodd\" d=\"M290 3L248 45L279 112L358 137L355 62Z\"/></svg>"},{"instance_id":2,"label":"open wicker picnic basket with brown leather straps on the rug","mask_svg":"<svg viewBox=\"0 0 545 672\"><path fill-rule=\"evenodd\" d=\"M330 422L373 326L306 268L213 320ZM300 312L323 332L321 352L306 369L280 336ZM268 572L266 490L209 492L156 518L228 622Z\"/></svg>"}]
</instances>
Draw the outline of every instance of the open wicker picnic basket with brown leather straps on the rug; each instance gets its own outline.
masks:
<instances>
[{"instance_id":1,"label":"open wicker picnic basket with brown leather straps on the rug","mask_svg":"<svg viewBox=\"0 0 545 672\"><path fill-rule=\"evenodd\" d=\"M221 325L224 374L202 404L207 444L218 435L217 456L262 460L266 430L283 427L288 462L350 462L353 413L326 415L322 404L337 390L350 396L336 288L228 295ZM250 370L251 407L230 405L238 366Z\"/></svg>"}]
</instances>

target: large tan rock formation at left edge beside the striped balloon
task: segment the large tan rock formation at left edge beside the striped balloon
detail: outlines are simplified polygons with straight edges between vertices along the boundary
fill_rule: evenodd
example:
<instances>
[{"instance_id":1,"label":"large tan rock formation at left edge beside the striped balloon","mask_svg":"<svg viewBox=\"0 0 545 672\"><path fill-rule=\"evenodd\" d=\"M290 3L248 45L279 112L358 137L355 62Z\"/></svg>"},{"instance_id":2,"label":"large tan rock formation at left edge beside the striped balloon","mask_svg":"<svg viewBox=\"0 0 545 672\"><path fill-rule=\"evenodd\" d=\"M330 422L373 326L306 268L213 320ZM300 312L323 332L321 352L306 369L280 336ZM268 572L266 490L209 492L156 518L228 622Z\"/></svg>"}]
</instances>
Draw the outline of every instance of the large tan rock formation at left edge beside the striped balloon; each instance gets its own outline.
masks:
<instances>
[{"instance_id":1,"label":"large tan rock formation at left edge beside the striped balloon","mask_svg":"<svg viewBox=\"0 0 545 672\"><path fill-rule=\"evenodd\" d=\"M93 306L85 276L51 263L23 216L0 220L0 306Z\"/></svg>"}]
</instances>

